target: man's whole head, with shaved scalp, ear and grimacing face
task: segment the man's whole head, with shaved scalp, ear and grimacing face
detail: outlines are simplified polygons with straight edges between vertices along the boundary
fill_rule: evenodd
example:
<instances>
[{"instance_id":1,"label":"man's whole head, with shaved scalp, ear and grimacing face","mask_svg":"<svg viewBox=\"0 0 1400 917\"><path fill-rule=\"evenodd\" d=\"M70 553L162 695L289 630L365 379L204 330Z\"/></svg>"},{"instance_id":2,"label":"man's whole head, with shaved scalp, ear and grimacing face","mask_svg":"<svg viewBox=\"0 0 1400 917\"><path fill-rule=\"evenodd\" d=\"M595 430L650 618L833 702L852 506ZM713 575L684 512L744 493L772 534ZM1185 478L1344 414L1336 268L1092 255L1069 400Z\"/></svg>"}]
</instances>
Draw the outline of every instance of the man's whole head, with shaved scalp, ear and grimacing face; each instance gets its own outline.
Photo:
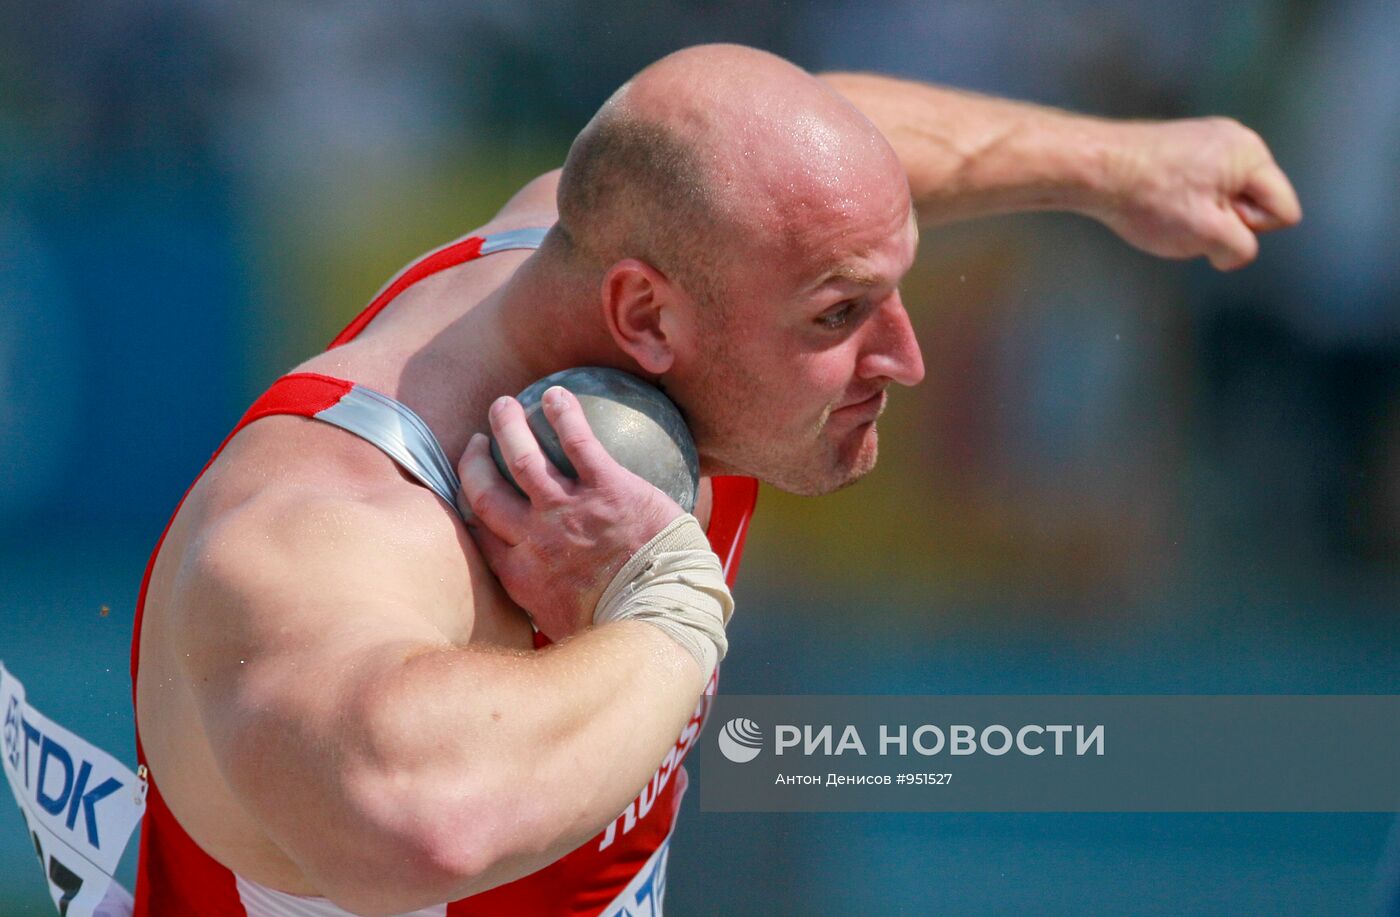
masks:
<instances>
[{"instance_id":1,"label":"man's whole head, with shaved scalp, ear and grimacing face","mask_svg":"<svg viewBox=\"0 0 1400 917\"><path fill-rule=\"evenodd\" d=\"M704 45L638 73L584 127L554 235L602 290L636 361L619 365L685 412L703 473L825 493L874 466L883 389L923 375L897 291L911 214L895 151L834 90Z\"/></svg>"}]
</instances>

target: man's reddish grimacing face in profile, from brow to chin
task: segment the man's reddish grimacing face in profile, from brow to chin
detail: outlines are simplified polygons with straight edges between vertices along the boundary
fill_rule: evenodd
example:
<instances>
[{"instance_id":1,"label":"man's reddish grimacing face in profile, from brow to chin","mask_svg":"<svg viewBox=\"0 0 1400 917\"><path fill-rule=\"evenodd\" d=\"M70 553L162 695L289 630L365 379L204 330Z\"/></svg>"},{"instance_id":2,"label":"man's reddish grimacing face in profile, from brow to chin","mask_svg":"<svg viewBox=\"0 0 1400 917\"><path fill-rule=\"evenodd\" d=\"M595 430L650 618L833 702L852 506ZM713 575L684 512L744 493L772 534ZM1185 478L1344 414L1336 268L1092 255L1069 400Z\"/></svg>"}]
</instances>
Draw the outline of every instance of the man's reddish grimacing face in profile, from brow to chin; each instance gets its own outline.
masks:
<instances>
[{"instance_id":1,"label":"man's reddish grimacing face in profile, from brow to chin","mask_svg":"<svg viewBox=\"0 0 1400 917\"><path fill-rule=\"evenodd\" d=\"M741 256L724 307L697 318L710 328L672 385L706 473L844 487L875 466L885 389L923 378L897 286L918 239L907 190L847 204Z\"/></svg>"}]
</instances>

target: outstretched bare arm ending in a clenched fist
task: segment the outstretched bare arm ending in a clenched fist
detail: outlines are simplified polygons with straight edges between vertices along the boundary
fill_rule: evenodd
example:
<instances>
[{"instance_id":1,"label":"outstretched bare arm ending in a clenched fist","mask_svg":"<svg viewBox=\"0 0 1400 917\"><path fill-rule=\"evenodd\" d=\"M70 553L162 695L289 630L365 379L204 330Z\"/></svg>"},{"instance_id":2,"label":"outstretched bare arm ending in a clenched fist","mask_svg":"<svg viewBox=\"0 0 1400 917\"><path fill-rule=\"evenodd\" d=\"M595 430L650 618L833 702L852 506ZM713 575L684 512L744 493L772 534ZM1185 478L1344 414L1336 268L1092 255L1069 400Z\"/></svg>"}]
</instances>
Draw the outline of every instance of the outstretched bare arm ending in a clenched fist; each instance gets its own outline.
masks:
<instances>
[{"instance_id":1,"label":"outstretched bare arm ending in a clenched fist","mask_svg":"<svg viewBox=\"0 0 1400 917\"><path fill-rule=\"evenodd\" d=\"M1016 210L1093 217L1163 258L1221 270L1296 224L1268 147L1228 118L1121 122L865 73L822 76L889 139L920 223Z\"/></svg>"}]
</instances>

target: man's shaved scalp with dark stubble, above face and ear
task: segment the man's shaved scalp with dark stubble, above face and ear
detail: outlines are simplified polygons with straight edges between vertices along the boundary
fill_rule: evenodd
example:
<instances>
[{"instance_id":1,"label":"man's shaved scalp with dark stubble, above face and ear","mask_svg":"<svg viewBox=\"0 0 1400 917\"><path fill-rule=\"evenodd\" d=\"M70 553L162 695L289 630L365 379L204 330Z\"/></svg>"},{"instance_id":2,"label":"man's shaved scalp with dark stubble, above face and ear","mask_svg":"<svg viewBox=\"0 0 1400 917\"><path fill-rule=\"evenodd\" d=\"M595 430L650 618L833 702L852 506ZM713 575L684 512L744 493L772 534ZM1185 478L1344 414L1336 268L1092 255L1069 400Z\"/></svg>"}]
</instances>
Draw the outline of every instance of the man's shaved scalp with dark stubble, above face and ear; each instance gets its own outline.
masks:
<instances>
[{"instance_id":1,"label":"man's shaved scalp with dark stubble, above face and ear","mask_svg":"<svg viewBox=\"0 0 1400 917\"><path fill-rule=\"evenodd\" d=\"M738 45L687 48L648 66L570 148L559 225L603 265L638 258L703 302L724 265L759 241L797 244L812 210L848 207L885 139L825 83Z\"/></svg>"}]
</instances>

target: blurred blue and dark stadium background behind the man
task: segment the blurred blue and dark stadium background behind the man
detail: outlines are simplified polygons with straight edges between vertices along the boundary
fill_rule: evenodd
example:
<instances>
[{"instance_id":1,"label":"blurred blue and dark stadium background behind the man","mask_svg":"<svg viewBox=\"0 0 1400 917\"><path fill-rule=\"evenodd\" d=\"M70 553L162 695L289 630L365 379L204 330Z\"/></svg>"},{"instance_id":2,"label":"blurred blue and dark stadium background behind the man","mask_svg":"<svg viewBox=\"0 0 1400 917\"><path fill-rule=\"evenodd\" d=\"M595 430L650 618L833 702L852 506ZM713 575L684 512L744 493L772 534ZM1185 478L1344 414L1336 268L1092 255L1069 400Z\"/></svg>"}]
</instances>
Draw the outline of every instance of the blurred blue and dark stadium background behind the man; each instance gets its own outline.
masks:
<instances>
[{"instance_id":1,"label":"blurred blue and dark stadium background behind the man","mask_svg":"<svg viewBox=\"0 0 1400 917\"><path fill-rule=\"evenodd\" d=\"M1070 216L925 231L928 378L858 487L760 496L727 693L1400 692L1393 0L0 0L0 658L31 703L134 764L146 556L244 407L703 41L1232 115L1306 211L1229 276ZM1400 913L1387 815L696 797L673 914ZM0 913L48 909L0 806Z\"/></svg>"}]
</instances>

